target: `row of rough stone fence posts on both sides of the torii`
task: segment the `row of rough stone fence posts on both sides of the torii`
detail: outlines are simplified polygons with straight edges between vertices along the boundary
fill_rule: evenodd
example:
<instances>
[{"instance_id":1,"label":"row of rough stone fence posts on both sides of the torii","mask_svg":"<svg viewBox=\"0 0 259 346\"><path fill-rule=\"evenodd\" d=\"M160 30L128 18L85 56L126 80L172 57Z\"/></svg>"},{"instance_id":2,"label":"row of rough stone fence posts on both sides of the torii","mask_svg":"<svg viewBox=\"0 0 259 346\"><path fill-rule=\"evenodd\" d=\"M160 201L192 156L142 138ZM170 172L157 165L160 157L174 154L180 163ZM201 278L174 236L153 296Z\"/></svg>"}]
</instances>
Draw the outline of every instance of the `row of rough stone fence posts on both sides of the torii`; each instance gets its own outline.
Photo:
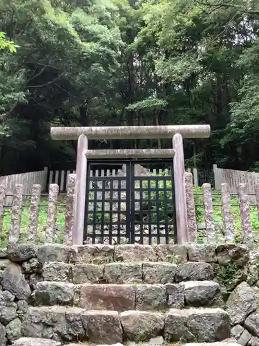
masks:
<instances>
[{"instance_id":1,"label":"row of rough stone fence posts on both sides of the torii","mask_svg":"<svg viewBox=\"0 0 259 346\"><path fill-rule=\"evenodd\" d=\"M198 222L196 219L196 206L195 196L193 194L193 176L191 173L184 174L185 193L186 193L186 210L187 210L187 231L190 243L198 242ZM64 213L65 225L62 239L59 237L58 242L70 245L73 242L73 227L75 218L75 187L76 176L70 174L68 176L68 190L66 194L66 202L62 212ZM48 192L48 206L46 225L44 226L44 240L41 239L41 244L51 244L56 242L54 239L57 231L57 208L58 208L58 195L59 186L57 184L50 184ZM224 238L220 242L236 242L236 232L238 232L240 242L244 244L253 243L254 232L251 228L251 215L249 196L247 194L247 184L240 183L239 190L239 207L240 207L240 220L241 228L235 230L233 223L233 216L231 215L231 194L229 192L229 185L222 183L221 185L221 208L222 220L224 224ZM23 185L15 185L13 191L12 207L10 210L11 222L8 228L8 243L16 243L20 241L20 228L21 228L21 213L23 208ZM5 217L4 208L6 200L6 187L0 185L0 240L3 239L3 219ZM204 239L207 243L216 243L217 231L215 229L215 222L213 219L213 198L211 194L211 185L204 183L202 185L202 201L205 221ZM32 194L29 206L29 222L28 228L23 230L22 242L36 244L37 232L39 230L39 207L41 203L41 186L38 184L33 185ZM256 185L256 205L259 220L259 184ZM116 210L115 210L116 212ZM42 225L41 225L42 226ZM26 237L26 238L24 238ZM1 246L0 246L1 247Z\"/></svg>"}]
</instances>

